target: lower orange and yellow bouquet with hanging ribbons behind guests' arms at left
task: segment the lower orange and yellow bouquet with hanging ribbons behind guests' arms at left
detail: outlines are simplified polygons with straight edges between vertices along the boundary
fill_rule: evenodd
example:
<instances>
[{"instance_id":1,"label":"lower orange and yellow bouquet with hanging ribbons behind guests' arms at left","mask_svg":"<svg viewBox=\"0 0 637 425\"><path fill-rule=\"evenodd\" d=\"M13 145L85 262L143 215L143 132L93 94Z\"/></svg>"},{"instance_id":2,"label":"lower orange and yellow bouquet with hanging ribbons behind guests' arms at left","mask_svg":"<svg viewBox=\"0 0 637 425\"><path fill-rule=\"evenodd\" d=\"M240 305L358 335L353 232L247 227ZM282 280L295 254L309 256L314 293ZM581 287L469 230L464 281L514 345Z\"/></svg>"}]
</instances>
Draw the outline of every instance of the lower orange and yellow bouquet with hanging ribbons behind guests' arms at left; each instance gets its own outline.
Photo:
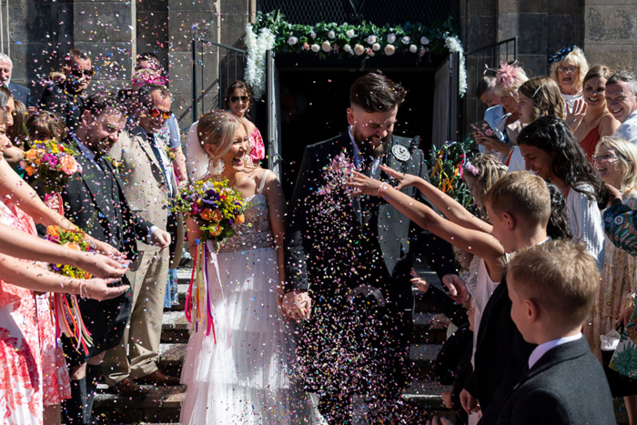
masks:
<instances>
[{"instance_id":1,"label":"lower orange and yellow bouquet with hanging ribbons behind guests' arms at left","mask_svg":"<svg viewBox=\"0 0 637 425\"><path fill-rule=\"evenodd\" d=\"M96 250L96 245L92 240L86 238L82 230L64 230L57 226L46 228L46 240L55 242L63 247L77 251L92 252ZM49 264L49 269L59 275L68 278L89 279L92 276L86 271L73 266L62 264ZM83 297L84 286L80 285L80 297ZM82 347L88 352L88 346L93 345L91 334L84 325L84 320L77 304L75 294L52 293L53 311L56 315L56 339L62 333L75 341L75 348Z\"/></svg>"}]
</instances>

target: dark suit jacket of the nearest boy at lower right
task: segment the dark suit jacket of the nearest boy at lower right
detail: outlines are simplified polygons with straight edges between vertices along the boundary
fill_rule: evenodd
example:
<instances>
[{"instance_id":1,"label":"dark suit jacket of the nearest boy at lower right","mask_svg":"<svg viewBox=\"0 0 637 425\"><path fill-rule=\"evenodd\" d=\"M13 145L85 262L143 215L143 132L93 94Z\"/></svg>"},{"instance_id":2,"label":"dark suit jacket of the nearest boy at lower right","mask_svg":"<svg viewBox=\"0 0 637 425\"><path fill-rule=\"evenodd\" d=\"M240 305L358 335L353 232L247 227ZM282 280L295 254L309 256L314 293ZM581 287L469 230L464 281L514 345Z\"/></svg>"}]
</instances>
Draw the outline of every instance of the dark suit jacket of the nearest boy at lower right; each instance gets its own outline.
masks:
<instances>
[{"instance_id":1,"label":"dark suit jacket of the nearest boy at lower right","mask_svg":"<svg viewBox=\"0 0 637 425\"><path fill-rule=\"evenodd\" d=\"M547 351L504 401L498 425L616 423L602 365L586 339Z\"/></svg>"}]
</instances>

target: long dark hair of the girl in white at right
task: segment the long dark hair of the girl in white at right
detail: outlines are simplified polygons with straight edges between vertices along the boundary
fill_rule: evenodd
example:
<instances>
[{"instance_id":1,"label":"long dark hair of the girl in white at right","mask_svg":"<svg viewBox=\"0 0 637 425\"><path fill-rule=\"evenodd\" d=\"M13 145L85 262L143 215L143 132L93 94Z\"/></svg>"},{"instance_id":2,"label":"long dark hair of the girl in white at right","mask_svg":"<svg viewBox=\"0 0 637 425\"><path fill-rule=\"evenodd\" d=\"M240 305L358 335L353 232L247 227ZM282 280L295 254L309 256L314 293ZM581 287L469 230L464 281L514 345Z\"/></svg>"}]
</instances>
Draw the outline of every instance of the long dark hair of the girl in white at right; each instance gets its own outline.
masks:
<instances>
[{"instance_id":1,"label":"long dark hair of the girl in white at right","mask_svg":"<svg viewBox=\"0 0 637 425\"><path fill-rule=\"evenodd\" d=\"M522 129L518 144L549 152L553 157L555 177L572 190L583 193L590 201L599 202L606 196L607 189L602 179L586 159L580 143L563 119L557 116L539 117Z\"/></svg>"}]
</instances>

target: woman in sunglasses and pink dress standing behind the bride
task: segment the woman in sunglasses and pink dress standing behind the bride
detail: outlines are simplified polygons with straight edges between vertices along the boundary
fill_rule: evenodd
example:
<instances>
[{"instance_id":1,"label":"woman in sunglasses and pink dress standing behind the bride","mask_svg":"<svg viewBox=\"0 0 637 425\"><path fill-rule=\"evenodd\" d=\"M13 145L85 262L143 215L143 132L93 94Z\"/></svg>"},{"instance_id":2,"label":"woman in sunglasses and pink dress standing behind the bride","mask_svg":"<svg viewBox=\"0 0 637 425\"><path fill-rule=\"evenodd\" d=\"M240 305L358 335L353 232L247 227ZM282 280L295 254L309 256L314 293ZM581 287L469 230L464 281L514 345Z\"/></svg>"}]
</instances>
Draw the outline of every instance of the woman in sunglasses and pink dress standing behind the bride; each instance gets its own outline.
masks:
<instances>
[{"instance_id":1,"label":"woman in sunglasses and pink dress standing behind the bride","mask_svg":"<svg viewBox=\"0 0 637 425\"><path fill-rule=\"evenodd\" d=\"M259 161L265 159L266 148L263 144L263 137L252 121L249 120L250 106L252 105L252 93L248 85L241 80L235 81L227 87L224 104L233 115L243 118L248 125L248 138L250 140L250 151L248 156L252 166L258 167Z\"/></svg>"}]
</instances>

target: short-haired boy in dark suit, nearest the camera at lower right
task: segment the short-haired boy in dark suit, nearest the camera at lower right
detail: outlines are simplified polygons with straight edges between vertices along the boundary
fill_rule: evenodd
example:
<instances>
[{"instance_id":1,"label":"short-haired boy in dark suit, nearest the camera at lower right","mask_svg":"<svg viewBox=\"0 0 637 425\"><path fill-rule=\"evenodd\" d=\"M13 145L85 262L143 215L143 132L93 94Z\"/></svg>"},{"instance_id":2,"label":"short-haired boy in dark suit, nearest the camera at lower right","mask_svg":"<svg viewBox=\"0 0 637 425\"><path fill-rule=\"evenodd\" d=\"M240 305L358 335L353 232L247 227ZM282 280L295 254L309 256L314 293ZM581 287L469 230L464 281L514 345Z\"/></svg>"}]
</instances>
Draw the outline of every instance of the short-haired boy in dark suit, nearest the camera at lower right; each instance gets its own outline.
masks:
<instances>
[{"instance_id":1,"label":"short-haired boy in dark suit, nearest the camera at lower right","mask_svg":"<svg viewBox=\"0 0 637 425\"><path fill-rule=\"evenodd\" d=\"M511 259L511 319L538 346L502 406L498 424L613 424L611 390L581 335L599 286L583 244L549 241Z\"/></svg>"}]
</instances>

